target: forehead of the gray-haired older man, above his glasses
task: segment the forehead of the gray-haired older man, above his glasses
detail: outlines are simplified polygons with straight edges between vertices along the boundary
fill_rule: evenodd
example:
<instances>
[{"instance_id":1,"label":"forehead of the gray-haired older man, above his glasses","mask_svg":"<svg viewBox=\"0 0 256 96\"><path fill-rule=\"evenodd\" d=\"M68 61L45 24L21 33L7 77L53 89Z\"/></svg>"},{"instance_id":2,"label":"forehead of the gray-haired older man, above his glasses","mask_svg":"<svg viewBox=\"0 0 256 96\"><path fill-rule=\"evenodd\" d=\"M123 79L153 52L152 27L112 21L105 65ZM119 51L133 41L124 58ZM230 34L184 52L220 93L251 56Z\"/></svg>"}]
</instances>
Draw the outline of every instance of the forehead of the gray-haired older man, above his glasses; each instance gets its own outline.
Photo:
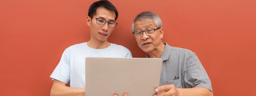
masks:
<instances>
[{"instance_id":1,"label":"forehead of the gray-haired older man, above his glasses","mask_svg":"<svg viewBox=\"0 0 256 96\"><path fill-rule=\"evenodd\" d=\"M139 20L134 22L134 30L145 29L145 28L155 28L156 24L153 20Z\"/></svg>"}]
</instances>

